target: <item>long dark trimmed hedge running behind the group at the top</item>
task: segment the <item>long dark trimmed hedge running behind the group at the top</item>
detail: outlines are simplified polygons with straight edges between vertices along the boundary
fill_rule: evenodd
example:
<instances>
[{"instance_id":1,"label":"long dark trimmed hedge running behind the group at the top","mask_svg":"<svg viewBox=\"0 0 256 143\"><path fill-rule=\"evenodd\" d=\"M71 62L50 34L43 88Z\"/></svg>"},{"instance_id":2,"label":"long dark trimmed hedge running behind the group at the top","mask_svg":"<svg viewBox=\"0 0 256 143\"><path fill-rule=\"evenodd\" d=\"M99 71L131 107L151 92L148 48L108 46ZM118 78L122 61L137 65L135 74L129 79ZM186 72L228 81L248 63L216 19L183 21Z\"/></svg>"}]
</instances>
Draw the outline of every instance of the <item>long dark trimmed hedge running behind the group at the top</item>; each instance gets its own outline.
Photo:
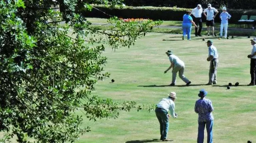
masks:
<instances>
[{"instance_id":1,"label":"long dark trimmed hedge running behind the group at the top","mask_svg":"<svg viewBox=\"0 0 256 143\"><path fill-rule=\"evenodd\" d=\"M84 11L83 15L90 18L110 18L111 16L117 16L118 18L145 18L151 20L173 20L182 21L182 16L185 14L186 10L192 10L187 8L176 8L176 7L132 7L126 6L125 8L108 8L106 6L94 6L91 12ZM215 22L220 22L219 15L222 10L218 10L219 13L214 19ZM232 16L229 20L230 24L237 24L242 15L256 16L256 10L234 10L228 9L228 13ZM202 15L202 20L205 22L206 18Z\"/></svg>"}]
</instances>

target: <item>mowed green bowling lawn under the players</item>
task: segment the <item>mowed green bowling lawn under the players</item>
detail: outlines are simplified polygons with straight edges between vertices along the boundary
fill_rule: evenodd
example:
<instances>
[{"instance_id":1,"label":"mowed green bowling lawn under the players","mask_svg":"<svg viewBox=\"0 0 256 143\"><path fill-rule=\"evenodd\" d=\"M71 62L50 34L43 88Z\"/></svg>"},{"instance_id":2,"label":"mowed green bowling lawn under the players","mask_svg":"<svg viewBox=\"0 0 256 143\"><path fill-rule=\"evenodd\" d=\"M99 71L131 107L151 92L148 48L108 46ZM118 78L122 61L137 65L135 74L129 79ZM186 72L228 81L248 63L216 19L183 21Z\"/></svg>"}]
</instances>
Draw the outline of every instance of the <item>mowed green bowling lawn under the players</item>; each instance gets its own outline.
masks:
<instances>
[{"instance_id":1,"label":"mowed green bowling lawn under the players","mask_svg":"<svg viewBox=\"0 0 256 143\"><path fill-rule=\"evenodd\" d=\"M178 118L170 118L168 138L173 143L195 143L198 114L194 112L194 104L199 90L204 88L208 91L206 98L212 100L214 106L214 143L256 141L256 86L246 86L250 82L250 60L247 58L252 47L250 41L247 37L211 38L219 52L217 85L204 85L208 82L209 70L206 41L199 37L182 41L181 35L148 33L130 49L106 49L104 55L108 57L108 64L105 70L111 76L98 82L93 94L120 103L133 100L139 104L157 104L174 91L178 97L175 101ZM170 65L165 54L169 49L184 61L184 73L192 81L191 86L183 86L185 83L180 78L177 78L177 86L165 86L172 78L171 71L164 74ZM110 83L111 79L115 82ZM239 82L240 86L227 90L229 82ZM120 112L117 119L96 122L84 119L84 126L92 127L92 131L82 135L76 143L148 143L160 139L154 112L132 110ZM206 136L205 130L205 141Z\"/></svg>"}]
</instances>

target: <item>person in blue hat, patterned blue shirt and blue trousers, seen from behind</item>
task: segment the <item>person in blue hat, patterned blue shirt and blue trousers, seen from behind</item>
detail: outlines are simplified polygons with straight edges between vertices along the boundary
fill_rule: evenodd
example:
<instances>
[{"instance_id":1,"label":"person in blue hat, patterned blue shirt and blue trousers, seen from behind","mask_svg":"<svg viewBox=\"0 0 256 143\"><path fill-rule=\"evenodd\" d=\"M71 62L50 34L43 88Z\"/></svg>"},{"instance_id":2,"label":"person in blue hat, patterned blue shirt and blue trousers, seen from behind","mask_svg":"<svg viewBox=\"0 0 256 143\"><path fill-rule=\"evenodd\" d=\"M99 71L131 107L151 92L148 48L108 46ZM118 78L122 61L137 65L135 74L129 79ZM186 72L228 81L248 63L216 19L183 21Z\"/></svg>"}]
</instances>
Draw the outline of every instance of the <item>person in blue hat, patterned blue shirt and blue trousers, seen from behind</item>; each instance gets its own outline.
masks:
<instances>
[{"instance_id":1,"label":"person in blue hat, patterned blue shirt and blue trousers, seen from behind","mask_svg":"<svg viewBox=\"0 0 256 143\"><path fill-rule=\"evenodd\" d=\"M195 104L195 112L198 114L198 135L197 143L204 143L204 128L206 125L207 131L207 143L212 143L212 126L213 126L213 116L212 116L212 101L204 98L207 95L207 91L202 89L199 91L199 100Z\"/></svg>"}]
</instances>

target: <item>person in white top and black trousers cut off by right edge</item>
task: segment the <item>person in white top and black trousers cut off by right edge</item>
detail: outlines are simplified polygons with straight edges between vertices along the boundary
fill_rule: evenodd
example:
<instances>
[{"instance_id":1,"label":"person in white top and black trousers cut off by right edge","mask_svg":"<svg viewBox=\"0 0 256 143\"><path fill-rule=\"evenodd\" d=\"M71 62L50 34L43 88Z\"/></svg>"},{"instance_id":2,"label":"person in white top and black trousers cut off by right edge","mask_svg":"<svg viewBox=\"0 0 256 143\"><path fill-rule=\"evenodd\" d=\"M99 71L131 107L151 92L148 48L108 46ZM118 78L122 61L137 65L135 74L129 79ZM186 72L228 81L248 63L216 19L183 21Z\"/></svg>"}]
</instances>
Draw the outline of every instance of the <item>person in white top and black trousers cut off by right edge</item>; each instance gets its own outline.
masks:
<instances>
[{"instance_id":1,"label":"person in white top and black trousers cut off by right edge","mask_svg":"<svg viewBox=\"0 0 256 143\"><path fill-rule=\"evenodd\" d=\"M247 57L251 59L250 62L250 74L251 74L251 82L248 86L254 86L256 84L256 38L250 40L252 44L252 53Z\"/></svg>"}]
</instances>

